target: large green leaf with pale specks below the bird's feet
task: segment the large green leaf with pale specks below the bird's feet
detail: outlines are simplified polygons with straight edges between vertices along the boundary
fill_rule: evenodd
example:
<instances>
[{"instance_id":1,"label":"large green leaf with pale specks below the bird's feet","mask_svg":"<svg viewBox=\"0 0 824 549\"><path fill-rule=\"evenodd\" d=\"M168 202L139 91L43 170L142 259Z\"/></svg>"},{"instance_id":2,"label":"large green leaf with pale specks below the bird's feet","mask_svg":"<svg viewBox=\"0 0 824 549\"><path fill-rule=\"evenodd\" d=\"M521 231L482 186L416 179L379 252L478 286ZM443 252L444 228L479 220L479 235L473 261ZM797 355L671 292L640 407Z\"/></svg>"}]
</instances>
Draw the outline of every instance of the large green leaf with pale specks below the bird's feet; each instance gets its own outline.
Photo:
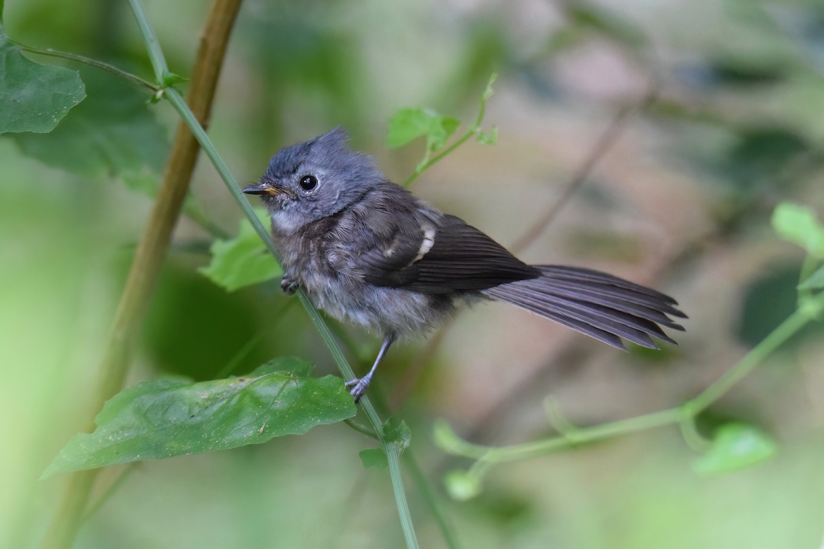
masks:
<instances>
[{"instance_id":1,"label":"large green leaf with pale specks below the bird's feet","mask_svg":"<svg viewBox=\"0 0 824 549\"><path fill-rule=\"evenodd\" d=\"M74 435L43 477L260 444L354 416L343 381L294 373L304 365L285 359L279 367L286 370L260 375L194 384L158 379L124 389L105 403L94 432Z\"/></svg>"}]
</instances>

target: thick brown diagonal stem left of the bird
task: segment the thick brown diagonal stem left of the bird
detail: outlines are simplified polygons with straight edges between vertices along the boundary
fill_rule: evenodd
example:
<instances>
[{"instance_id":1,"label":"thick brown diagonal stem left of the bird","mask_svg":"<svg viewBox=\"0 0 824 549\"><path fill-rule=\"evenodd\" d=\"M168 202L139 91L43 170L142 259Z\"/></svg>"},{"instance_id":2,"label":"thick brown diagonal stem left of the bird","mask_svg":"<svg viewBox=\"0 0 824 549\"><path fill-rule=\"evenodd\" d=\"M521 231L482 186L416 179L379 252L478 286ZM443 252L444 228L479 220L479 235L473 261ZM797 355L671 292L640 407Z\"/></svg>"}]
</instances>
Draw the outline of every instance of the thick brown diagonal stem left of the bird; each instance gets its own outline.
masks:
<instances>
[{"instance_id":1,"label":"thick brown diagonal stem left of the bird","mask_svg":"<svg viewBox=\"0 0 824 549\"><path fill-rule=\"evenodd\" d=\"M229 34L241 0L215 0L200 35L200 47L194 62L187 102L204 127L208 123L218 85L218 76L226 54ZM177 218L194 171L199 152L198 142L184 123L180 123L163 174L161 188L134 254L132 268L115 314L109 340L101 361L100 380L89 402L85 430L94 428L92 418L103 403L123 387L135 335L146 313L149 297L162 267ZM94 485L96 471L73 473L55 507L40 547L71 547L80 528L82 515Z\"/></svg>"}]
</instances>

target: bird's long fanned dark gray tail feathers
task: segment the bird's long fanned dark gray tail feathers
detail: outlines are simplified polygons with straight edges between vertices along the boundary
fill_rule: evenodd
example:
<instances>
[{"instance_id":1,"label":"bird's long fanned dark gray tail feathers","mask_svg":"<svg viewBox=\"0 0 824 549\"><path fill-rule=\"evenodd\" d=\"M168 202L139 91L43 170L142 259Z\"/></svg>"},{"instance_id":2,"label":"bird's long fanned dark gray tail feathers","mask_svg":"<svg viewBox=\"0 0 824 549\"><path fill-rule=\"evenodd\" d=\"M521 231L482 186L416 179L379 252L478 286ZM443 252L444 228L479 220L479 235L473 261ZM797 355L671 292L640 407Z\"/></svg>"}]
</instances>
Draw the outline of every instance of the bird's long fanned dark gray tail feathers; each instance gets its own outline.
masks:
<instances>
[{"instance_id":1,"label":"bird's long fanned dark gray tail feathers","mask_svg":"<svg viewBox=\"0 0 824 549\"><path fill-rule=\"evenodd\" d=\"M667 315L686 319L686 314L676 308L676 300L661 292L591 269L535 267L540 277L482 292L619 349L625 349L620 337L650 349L658 348L650 336L675 343L658 324L684 330Z\"/></svg>"}]
</instances>

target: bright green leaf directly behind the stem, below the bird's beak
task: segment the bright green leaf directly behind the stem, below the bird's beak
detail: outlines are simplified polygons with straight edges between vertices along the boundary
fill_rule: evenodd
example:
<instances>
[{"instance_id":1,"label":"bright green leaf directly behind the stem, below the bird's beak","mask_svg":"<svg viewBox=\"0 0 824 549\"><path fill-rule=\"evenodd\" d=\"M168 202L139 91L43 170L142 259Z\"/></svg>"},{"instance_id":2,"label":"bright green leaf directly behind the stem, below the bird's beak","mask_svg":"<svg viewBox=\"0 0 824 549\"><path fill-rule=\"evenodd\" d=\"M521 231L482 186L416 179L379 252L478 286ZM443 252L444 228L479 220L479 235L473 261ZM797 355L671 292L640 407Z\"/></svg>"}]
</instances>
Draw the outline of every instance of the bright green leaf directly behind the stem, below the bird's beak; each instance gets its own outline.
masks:
<instances>
[{"instance_id":1,"label":"bright green leaf directly behind the stem, below the bird's beak","mask_svg":"<svg viewBox=\"0 0 824 549\"><path fill-rule=\"evenodd\" d=\"M260 221L269 222L265 211L255 212ZM199 268L199 272L227 291L271 280L283 272L246 219L241 220L235 238L215 240L210 250L212 261L207 267Z\"/></svg>"}]
</instances>

